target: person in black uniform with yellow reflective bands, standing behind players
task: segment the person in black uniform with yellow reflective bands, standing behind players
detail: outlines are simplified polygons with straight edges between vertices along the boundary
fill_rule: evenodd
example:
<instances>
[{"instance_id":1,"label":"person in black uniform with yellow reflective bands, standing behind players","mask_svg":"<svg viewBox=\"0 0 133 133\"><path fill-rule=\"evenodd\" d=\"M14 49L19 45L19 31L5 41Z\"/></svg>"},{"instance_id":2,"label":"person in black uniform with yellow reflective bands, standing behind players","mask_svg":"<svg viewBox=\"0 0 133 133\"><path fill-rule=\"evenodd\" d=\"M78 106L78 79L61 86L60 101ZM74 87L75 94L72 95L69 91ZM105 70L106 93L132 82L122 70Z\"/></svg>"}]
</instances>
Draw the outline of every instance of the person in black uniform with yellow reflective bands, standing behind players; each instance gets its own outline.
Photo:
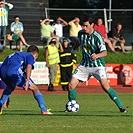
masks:
<instances>
[{"instance_id":1,"label":"person in black uniform with yellow reflective bands, standing behind players","mask_svg":"<svg viewBox=\"0 0 133 133\"><path fill-rule=\"evenodd\" d=\"M72 46L68 38L63 38L63 52L60 53L61 86L64 91L68 90L68 83L72 78L73 64L76 63L76 55L71 53Z\"/></svg>"}]
</instances>

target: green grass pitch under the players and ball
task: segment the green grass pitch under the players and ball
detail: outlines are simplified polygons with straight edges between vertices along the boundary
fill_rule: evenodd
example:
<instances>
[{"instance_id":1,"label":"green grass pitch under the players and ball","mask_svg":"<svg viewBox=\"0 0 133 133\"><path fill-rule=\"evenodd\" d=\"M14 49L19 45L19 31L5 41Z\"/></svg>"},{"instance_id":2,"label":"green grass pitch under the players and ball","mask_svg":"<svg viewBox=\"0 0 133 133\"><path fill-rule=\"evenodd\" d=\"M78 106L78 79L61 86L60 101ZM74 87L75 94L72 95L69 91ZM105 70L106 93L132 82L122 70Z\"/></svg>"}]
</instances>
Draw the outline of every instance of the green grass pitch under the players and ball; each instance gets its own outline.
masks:
<instances>
[{"instance_id":1,"label":"green grass pitch under the players and ball","mask_svg":"<svg viewBox=\"0 0 133 133\"><path fill-rule=\"evenodd\" d=\"M43 95L53 115L41 115L32 95L12 95L0 116L0 133L132 133L133 95L119 94L127 113L120 113L107 94L78 94L76 113L63 112L66 94Z\"/></svg>"}]
</instances>

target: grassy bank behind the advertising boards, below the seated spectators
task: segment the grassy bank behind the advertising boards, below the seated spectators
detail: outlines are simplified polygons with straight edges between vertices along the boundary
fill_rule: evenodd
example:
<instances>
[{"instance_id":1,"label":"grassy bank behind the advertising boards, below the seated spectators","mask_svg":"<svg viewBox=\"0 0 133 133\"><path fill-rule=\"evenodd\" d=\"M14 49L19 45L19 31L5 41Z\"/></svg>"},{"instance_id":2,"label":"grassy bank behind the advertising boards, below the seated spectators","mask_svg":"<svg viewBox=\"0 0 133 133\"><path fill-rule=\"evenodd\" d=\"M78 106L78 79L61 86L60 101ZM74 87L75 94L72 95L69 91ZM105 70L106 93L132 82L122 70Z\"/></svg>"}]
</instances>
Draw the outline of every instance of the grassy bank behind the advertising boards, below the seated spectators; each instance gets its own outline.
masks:
<instances>
[{"instance_id":1,"label":"grassy bank behind the advertising boards, below the seated spectators","mask_svg":"<svg viewBox=\"0 0 133 133\"><path fill-rule=\"evenodd\" d=\"M18 50L10 50L9 48L5 48L3 52L0 53L0 61L2 62L7 55L18 51ZM26 51L26 48L23 50ZM80 63L82 59L81 51L75 52L77 55L77 63ZM45 49L40 48L39 57L37 61L45 61ZM131 53L113 53L108 52L108 55L105 57L105 62L109 64L132 64L133 63L133 51Z\"/></svg>"}]
</instances>

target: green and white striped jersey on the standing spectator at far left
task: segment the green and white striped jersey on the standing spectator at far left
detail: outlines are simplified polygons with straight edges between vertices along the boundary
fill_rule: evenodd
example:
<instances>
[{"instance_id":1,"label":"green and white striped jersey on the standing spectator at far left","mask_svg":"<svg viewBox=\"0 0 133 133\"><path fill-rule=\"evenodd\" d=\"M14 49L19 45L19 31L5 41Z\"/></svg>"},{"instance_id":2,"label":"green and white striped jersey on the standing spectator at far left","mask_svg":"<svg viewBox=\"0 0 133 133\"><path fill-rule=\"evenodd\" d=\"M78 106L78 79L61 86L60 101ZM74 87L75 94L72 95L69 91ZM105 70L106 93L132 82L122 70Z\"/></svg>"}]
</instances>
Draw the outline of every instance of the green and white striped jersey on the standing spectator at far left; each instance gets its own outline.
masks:
<instances>
[{"instance_id":1,"label":"green and white striped jersey on the standing spectator at far left","mask_svg":"<svg viewBox=\"0 0 133 133\"><path fill-rule=\"evenodd\" d=\"M8 4L3 8L0 8L0 26L8 25L8 11L13 8L12 4Z\"/></svg>"}]
</instances>

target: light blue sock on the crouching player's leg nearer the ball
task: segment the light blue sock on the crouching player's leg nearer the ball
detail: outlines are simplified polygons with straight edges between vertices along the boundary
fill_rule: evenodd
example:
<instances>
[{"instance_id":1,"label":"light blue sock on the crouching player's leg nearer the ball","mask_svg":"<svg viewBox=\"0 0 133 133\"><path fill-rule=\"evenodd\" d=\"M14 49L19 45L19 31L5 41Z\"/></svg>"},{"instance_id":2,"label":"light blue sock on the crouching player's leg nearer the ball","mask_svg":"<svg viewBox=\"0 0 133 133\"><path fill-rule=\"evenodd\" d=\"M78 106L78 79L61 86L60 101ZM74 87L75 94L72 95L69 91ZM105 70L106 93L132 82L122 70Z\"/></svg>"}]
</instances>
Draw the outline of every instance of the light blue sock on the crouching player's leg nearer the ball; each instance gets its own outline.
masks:
<instances>
[{"instance_id":1,"label":"light blue sock on the crouching player's leg nearer the ball","mask_svg":"<svg viewBox=\"0 0 133 133\"><path fill-rule=\"evenodd\" d=\"M46 105L44 103L44 98L43 98L41 92L37 92L36 94L34 94L34 98L37 100L38 105L39 105L41 111L46 112L47 109L46 109Z\"/></svg>"}]
</instances>

